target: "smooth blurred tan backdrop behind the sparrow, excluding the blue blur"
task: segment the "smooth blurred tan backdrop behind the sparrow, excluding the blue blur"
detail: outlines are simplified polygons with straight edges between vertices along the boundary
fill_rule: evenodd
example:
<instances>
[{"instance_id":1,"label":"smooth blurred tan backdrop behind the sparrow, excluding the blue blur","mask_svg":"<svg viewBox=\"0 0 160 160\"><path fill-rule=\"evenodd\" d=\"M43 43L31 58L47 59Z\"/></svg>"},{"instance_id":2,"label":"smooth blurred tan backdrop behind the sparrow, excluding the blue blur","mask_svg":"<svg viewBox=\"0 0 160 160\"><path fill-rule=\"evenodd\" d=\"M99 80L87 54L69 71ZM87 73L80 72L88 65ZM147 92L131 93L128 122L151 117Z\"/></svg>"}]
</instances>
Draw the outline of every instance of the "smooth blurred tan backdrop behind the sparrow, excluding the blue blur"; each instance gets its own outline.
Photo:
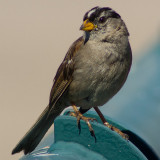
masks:
<instances>
[{"instance_id":1,"label":"smooth blurred tan backdrop behind the sparrow, excluding the blue blur","mask_svg":"<svg viewBox=\"0 0 160 160\"><path fill-rule=\"evenodd\" d=\"M159 0L0 0L1 159L22 156L11 151L47 105L56 70L95 6L122 16L134 59L160 36Z\"/></svg>"}]
</instances>

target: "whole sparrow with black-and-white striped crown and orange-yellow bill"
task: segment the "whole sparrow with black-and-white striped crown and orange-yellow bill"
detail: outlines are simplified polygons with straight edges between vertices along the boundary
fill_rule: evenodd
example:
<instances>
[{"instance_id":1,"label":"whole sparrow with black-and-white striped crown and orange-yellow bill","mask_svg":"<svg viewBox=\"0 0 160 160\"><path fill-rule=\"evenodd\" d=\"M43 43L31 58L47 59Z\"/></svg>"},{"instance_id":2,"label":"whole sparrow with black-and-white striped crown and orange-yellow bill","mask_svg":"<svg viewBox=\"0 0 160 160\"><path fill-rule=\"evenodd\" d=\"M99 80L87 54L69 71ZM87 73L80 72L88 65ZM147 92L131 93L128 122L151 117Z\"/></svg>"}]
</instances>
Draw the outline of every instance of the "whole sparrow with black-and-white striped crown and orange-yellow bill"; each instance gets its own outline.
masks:
<instances>
[{"instance_id":1,"label":"whole sparrow with black-and-white striped crown and orange-yellow bill","mask_svg":"<svg viewBox=\"0 0 160 160\"><path fill-rule=\"evenodd\" d=\"M102 122L110 125L99 110L123 86L132 64L129 32L121 16L109 7L94 7L85 13L80 27L83 36L69 48L54 77L49 104L36 123L13 149L12 154L32 152L61 112L72 106L70 115L84 120L93 136L93 118L83 114L94 108ZM79 107L79 109L77 108Z\"/></svg>"}]
</instances>

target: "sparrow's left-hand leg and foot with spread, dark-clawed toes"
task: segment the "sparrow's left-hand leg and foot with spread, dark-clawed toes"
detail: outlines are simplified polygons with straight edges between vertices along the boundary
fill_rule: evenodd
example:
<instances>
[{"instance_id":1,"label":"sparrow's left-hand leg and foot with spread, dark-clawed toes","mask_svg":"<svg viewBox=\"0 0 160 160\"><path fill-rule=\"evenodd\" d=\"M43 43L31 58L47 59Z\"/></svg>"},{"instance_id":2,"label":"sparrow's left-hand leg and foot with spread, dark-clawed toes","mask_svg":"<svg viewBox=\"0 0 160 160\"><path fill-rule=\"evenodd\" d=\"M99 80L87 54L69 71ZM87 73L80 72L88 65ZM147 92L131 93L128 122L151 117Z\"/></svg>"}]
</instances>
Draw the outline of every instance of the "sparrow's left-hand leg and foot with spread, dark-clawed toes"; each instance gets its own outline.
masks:
<instances>
[{"instance_id":1,"label":"sparrow's left-hand leg and foot with spread, dark-clawed toes","mask_svg":"<svg viewBox=\"0 0 160 160\"><path fill-rule=\"evenodd\" d=\"M77 107L75 105L72 105L72 107L73 107L74 112L70 112L70 115L77 118L77 125L78 125L79 130L80 130L80 120L82 119L83 121L85 121L87 123L91 135L96 139L95 134L94 134L94 130L92 128L92 125L90 124L90 121L93 122L96 119L95 118L90 118L90 117L85 117L77 109Z\"/></svg>"}]
</instances>

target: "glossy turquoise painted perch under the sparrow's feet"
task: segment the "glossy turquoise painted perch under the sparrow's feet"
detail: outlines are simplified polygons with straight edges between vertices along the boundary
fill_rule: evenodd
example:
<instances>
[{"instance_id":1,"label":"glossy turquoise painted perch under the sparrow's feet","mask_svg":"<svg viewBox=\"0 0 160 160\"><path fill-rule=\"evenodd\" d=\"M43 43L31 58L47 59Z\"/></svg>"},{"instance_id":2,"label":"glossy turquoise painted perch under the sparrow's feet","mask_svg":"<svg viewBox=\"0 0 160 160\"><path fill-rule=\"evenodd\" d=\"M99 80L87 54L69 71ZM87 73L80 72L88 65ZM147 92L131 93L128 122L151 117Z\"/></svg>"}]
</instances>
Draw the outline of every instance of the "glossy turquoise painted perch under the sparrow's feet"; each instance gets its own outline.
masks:
<instances>
[{"instance_id":1,"label":"glossy turquoise painted perch under the sparrow's feet","mask_svg":"<svg viewBox=\"0 0 160 160\"><path fill-rule=\"evenodd\" d=\"M81 133L77 128L76 118L66 115L55 120L54 143L49 148L42 148L24 156L21 160L146 160L143 153L130 141L105 127L99 117L90 111L85 114L94 117L91 122L95 131L96 142L90 135L87 124L81 120ZM125 128L106 117L115 127Z\"/></svg>"}]
</instances>

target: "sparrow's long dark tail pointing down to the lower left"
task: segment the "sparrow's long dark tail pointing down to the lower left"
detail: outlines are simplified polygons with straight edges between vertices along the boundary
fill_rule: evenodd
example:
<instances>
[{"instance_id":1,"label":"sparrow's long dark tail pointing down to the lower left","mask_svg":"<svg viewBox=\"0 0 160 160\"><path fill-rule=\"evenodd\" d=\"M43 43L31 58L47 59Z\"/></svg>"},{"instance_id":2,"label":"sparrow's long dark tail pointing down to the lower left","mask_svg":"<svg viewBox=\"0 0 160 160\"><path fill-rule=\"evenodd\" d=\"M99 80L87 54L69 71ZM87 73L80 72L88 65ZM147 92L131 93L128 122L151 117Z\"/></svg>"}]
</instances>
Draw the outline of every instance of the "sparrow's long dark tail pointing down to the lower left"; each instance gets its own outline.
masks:
<instances>
[{"instance_id":1,"label":"sparrow's long dark tail pointing down to the lower left","mask_svg":"<svg viewBox=\"0 0 160 160\"><path fill-rule=\"evenodd\" d=\"M54 122L54 119L61 113L61 111L53 111L49 113L49 107L47 106L43 113L40 115L36 123L20 140L17 146L13 149L12 154L18 153L24 150L24 154L32 152L44 137L48 129Z\"/></svg>"}]
</instances>

